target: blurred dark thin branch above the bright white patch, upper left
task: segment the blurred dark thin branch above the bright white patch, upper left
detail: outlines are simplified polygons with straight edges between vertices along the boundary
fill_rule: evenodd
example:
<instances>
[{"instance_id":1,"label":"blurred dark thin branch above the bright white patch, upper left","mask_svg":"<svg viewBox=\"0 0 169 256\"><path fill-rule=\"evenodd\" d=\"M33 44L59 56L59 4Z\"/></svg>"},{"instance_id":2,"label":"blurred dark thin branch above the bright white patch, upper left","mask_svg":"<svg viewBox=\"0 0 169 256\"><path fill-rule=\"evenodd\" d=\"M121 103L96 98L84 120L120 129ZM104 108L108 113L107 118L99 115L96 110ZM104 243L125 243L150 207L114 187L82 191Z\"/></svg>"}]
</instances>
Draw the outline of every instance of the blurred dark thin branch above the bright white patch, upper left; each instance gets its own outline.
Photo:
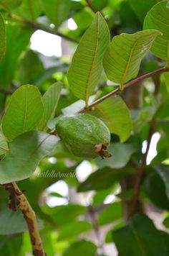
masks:
<instances>
[{"instance_id":1,"label":"blurred dark thin branch above the bright white patch, upper left","mask_svg":"<svg viewBox=\"0 0 169 256\"><path fill-rule=\"evenodd\" d=\"M32 27L33 29L40 29L43 30L44 32L48 32L52 35L57 35L59 37L64 38L65 40L68 40L70 42L76 42L79 43L78 40L76 40L73 37L69 37L68 35L64 35L59 31L53 30L53 29L49 29L49 27L44 27L42 24L38 24L38 23L34 23L31 22L29 20L24 20L24 19L20 19L19 17L16 17L15 15L11 15L9 14L9 17L14 21L14 22L18 22L18 23L22 23L22 24L26 24L29 27Z\"/></svg>"}]
</instances>

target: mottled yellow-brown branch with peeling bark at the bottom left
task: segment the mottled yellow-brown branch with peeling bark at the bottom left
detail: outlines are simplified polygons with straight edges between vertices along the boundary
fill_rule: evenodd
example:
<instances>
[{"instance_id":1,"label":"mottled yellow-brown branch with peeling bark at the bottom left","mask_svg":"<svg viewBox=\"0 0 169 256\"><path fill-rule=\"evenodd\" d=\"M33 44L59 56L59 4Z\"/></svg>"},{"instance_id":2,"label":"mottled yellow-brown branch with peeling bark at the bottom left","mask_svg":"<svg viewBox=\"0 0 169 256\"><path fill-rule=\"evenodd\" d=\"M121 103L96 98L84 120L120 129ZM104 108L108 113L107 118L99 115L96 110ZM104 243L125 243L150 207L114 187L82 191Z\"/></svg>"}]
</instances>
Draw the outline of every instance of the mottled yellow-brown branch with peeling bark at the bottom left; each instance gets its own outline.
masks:
<instances>
[{"instance_id":1,"label":"mottled yellow-brown branch with peeling bark at the bottom left","mask_svg":"<svg viewBox=\"0 0 169 256\"><path fill-rule=\"evenodd\" d=\"M3 186L7 191L9 191L9 208L11 208L13 211L16 211L16 209L19 208L24 215L32 242L33 255L45 256L42 241L39 235L39 229L37 227L37 219L32 206L29 204L29 201L27 201L26 196L24 196L23 192L20 191L15 182L4 184Z\"/></svg>"}]
</instances>

